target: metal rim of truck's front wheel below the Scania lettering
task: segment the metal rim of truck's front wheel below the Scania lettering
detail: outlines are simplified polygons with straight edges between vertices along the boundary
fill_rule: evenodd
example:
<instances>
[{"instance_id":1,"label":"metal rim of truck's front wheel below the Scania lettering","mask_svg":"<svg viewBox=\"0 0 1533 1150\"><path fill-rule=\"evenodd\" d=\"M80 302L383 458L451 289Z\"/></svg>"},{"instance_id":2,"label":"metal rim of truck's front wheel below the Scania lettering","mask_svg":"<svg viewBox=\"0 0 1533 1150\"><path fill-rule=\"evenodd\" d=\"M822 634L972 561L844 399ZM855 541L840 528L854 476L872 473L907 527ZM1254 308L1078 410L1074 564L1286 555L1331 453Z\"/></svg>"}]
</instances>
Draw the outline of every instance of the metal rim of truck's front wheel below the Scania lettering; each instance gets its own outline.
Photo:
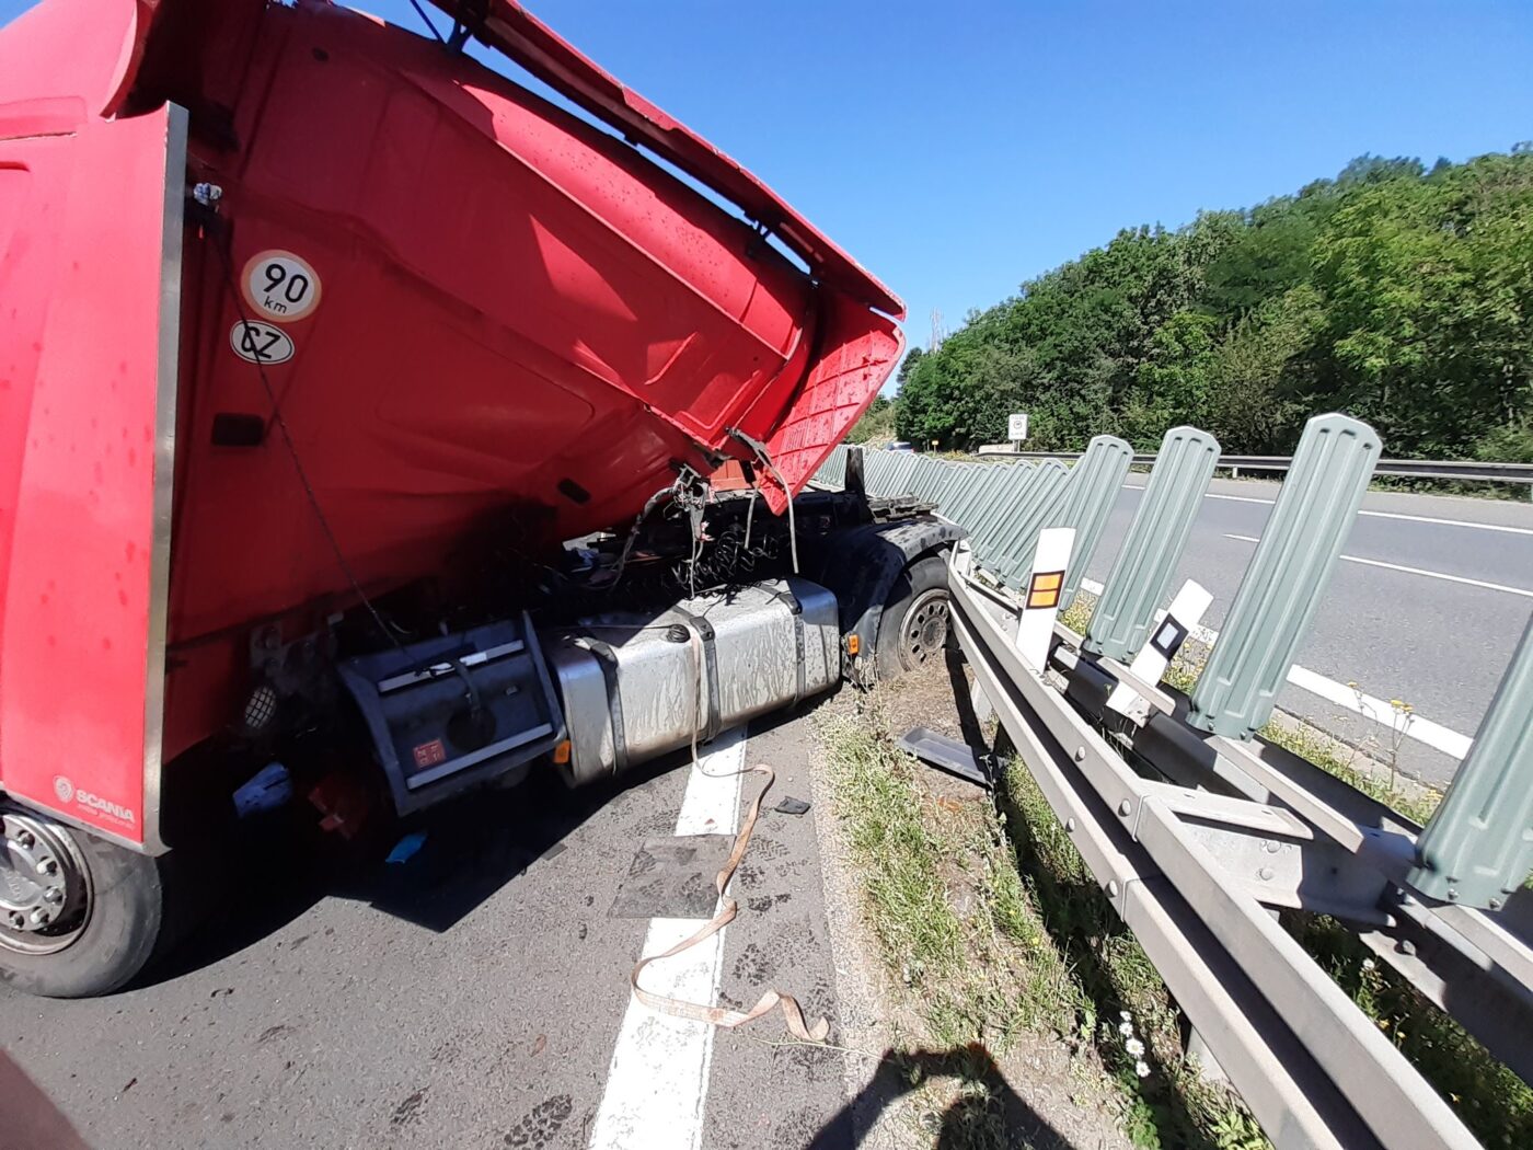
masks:
<instances>
[{"instance_id":1,"label":"metal rim of truck's front wheel below the Scania lettering","mask_svg":"<svg viewBox=\"0 0 1533 1150\"><path fill-rule=\"evenodd\" d=\"M90 917L90 871L74 837L55 822L0 808L0 948L55 954Z\"/></svg>"}]
</instances>

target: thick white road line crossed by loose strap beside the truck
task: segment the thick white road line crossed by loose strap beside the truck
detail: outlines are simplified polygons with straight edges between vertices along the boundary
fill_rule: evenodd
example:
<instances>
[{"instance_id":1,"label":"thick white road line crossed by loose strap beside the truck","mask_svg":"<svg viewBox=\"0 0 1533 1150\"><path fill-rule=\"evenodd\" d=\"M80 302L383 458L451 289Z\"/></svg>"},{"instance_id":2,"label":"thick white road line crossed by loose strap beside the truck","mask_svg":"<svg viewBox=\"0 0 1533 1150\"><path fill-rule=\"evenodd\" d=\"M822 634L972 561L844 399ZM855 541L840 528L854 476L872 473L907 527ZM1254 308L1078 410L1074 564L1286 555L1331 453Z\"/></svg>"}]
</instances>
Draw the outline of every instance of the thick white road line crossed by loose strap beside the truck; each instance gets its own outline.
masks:
<instances>
[{"instance_id":1,"label":"thick white road line crossed by loose strap beside the truck","mask_svg":"<svg viewBox=\"0 0 1533 1150\"><path fill-rule=\"evenodd\" d=\"M725 731L687 777L676 834L734 834L740 814L745 728ZM642 954L659 954L687 938L701 918L652 918ZM645 989L711 1003L724 966L724 931L690 951L645 969ZM713 1063L713 1027L656 1014L632 997L607 1069L592 1150L698 1150Z\"/></svg>"}]
</instances>

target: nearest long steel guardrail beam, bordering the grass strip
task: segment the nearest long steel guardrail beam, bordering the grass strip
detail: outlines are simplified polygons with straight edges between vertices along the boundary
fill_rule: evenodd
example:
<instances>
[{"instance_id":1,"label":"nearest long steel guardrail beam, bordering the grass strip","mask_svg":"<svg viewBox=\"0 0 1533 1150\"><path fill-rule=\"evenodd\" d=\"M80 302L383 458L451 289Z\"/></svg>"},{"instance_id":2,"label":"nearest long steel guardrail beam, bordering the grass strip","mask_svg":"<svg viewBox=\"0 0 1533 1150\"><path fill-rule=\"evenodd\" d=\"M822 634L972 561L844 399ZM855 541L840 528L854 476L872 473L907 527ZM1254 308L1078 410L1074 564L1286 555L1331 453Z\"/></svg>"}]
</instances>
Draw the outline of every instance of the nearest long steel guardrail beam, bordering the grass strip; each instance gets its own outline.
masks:
<instances>
[{"instance_id":1,"label":"nearest long steel guardrail beam, bordering the grass strip","mask_svg":"<svg viewBox=\"0 0 1533 1150\"><path fill-rule=\"evenodd\" d=\"M1406 1144L1467 1150L1476 1145L1404 1056L1329 983L1325 972L1297 945L1285 948L1257 925L1260 915L1277 929L1254 899L1245 897L1254 914L1236 915L1225 923L1225 929L1239 937L1242 951L1262 951L1265 960L1252 969L1248 960L1229 952L1223 938L1214 941L1210 909L1187 900L1180 885L1157 877L1162 866L1136 834L1151 785L1137 779L1058 692L1023 665L1003 627L973 598L963 578L955 575L950 580L950 593L955 635L964 655L1013 742L1035 751L1024 753L1024 765L1050 796L1050 805L1072 839L1082 846L1084 842L1096 843L1095 849L1085 851L1088 865L1096 856L1095 860L1107 866L1105 874L1093 866L1096 880L1134 929L1173 997L1205 1037L1214 1058L1231 1075L1272 1142L1280 1150ZM1076 780L1073 785L1072 776ZM1067 793L1073 799L1067 799ZM1062 808L1055 803L1056 796ZM1137 849L1124 846L1125 833ZM1107 843L1119 849L1102 849ZM1164 849L1176 859L1176 851ZM1113 866L1118 862L1114 856L1124 860L1118 866ZM1125 877L1130 871L1137 880ZM1211 882L1217 886L1217 880ZM1206 895L1203 885L1188 885ZM1180 931L1171 909L1179 902L1188 908L1180 915L1187 929ZM1274 964L1272 971L1266 969L1266 960ZM1263 977L1277 977L1277 968L1288 968L1282 978L1286 997L1280 1003L1272 1001L1262 986ZM1366 1056L1354 1053L1352 1067L1328 1066L1328 1061L1337 1063L1335 1055L1317 1052L1314 1041L1305 1041L1285 1021L1295 1009L1318 1018L1320 1010L1312 1006L1315 997L1321 997L1328 1009L1338 1007L1325 997L1326 992L1314 981L1317 978L1326 980L1346 1004L1344 1009L1357 1014L1358 1026L1349 1033L1366 1046ZM1297 1000L1294 984L1303 987ZM1367 1029L1374 1030L1372 1038L1363 1037ZM1334 1040L1334 1035L1329 1038ZM1341 1089L1335 1079L1338 1072L1366 1081L1367 1089L1357 1093ZM1395 1086L1387 1086L1390 1081ZM1409 1125L1416 1135L1415 1142L1395 1138L1397 1125ZM1381 1129L1386 1132L1383 1138Z\"/></svg>"}]
</instances>

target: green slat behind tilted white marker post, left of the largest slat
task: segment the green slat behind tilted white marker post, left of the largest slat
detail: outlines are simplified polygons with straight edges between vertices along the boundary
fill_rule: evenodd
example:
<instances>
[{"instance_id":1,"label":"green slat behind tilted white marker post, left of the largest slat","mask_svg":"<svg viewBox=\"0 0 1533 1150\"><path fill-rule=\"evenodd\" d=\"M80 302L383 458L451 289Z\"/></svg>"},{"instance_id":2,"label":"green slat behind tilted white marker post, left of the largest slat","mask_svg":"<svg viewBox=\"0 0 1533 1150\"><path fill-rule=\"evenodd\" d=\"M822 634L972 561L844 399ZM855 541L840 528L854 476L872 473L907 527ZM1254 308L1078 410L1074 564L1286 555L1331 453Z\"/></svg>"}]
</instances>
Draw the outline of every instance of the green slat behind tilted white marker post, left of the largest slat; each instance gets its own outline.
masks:
<instances>
[{"instance_id":1,"label":"green slat behind tilted white marker post, left of the largest slat","mask_svg":"<svg viewBox=\"0 0 1533 1150\"><path fill-rule=\"evenodd\" d=\"M1217 462L1219 440L1206 431L1165 432L1139 511L1085 629L1082 646L1093 655L1131 662L1150 638Z\"/></svg>"}]
</instances>

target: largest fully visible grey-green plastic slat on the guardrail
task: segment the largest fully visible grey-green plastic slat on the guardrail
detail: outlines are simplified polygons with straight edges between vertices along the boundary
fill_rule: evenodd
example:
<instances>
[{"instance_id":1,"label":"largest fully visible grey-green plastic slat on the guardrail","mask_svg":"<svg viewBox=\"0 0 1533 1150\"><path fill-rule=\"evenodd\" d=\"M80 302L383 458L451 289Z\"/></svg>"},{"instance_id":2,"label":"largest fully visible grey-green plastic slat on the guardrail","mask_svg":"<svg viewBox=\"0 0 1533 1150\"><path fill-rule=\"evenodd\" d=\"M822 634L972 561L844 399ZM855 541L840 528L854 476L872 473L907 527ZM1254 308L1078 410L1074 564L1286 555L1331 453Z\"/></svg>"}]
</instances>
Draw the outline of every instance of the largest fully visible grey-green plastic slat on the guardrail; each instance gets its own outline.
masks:
<instances>
[{"instance_id":1,"label":"largest fully visible grey-green plastic slat on the guardrail","mask_svg":"<svg viewBox=\"0 0 1533 1150\"><path fill-rule=\"evenodd\" d=\"M1266 724L1378 452L1378 432L1348 416L1315 416L1305 425L1251 566L1193 688L1187 715L1193 727L1249 739Z\"/></svg>"}]
</instances>

